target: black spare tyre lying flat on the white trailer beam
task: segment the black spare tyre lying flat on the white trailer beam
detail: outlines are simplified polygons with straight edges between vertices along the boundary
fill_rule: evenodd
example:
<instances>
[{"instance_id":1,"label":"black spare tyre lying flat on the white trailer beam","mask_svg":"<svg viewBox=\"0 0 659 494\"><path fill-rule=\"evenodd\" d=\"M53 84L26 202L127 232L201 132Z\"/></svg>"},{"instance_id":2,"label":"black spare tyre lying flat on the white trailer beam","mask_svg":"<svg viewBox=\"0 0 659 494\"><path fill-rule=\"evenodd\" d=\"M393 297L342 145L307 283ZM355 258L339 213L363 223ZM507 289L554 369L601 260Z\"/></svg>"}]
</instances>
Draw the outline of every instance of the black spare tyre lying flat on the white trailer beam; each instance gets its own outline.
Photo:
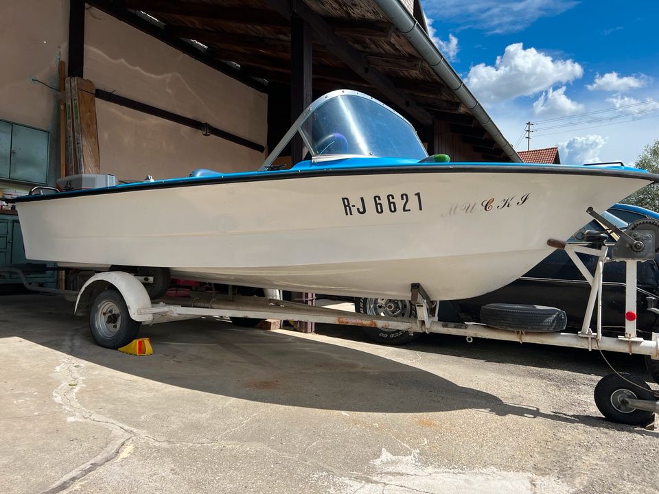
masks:
<instances>
[{"instance_id":1,"label":"black spare tyre lying flat on the white trailer beam","mask_svg":"<svg viewBox=\"0 0 659 494\"><path fill-rule=\"evenodd\" d=\"M481 307L481 322L497 329L554 333L568 322L565 312L555 307L520 304L487 304Z\"/></svg>"}]
</instances>

